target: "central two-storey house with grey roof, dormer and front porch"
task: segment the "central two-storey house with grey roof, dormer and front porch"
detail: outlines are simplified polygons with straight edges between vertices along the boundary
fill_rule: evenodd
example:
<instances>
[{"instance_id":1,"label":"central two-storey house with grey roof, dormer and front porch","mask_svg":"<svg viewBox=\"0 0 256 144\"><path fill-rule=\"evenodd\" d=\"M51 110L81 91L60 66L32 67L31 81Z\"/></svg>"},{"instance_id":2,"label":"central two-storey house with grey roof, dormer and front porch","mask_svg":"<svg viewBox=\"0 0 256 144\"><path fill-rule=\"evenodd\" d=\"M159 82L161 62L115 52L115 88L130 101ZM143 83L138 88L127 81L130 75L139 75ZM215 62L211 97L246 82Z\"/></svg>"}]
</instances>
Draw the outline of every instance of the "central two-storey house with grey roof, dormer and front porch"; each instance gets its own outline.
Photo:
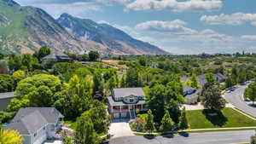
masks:
<instances>
[{"instance_id":1,"label":"central two-storey house with grey roof, dormer and front porch","mask_svg":"<svg viewBox=\"0 0 256 144\"><path fill-rule=\"evenodd\" d=\"M113 89L108 96L108 112L112 118L136 118L135 111L147 111L143 88Z\"/></svg>"}]
</instances>

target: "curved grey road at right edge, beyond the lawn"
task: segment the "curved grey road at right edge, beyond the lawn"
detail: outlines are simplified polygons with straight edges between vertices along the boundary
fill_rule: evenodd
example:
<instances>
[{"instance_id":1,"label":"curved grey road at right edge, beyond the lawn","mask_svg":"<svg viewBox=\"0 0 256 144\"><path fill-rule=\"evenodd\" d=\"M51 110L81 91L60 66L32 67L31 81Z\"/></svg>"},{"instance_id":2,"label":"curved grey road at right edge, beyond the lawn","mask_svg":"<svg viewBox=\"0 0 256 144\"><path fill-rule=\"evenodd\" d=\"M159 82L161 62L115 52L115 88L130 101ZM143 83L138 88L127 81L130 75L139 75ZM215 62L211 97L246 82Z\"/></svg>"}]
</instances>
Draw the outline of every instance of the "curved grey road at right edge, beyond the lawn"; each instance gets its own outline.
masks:
<instances>
[{"instance_id":1,"label":"curved grey road at right edge, beyond the lawn","mask_svg":"<svg viewBox=\"0 0 256 144\"><path fill-rule=\"evenodd\" d=\"M248 106L247 103L242 99L242 95L247 86L248 84L237 86L235 91L225 93L224 98L241 111L247 112L253 117L256 117L256 107Z\"/></svg>"}]
</instances>

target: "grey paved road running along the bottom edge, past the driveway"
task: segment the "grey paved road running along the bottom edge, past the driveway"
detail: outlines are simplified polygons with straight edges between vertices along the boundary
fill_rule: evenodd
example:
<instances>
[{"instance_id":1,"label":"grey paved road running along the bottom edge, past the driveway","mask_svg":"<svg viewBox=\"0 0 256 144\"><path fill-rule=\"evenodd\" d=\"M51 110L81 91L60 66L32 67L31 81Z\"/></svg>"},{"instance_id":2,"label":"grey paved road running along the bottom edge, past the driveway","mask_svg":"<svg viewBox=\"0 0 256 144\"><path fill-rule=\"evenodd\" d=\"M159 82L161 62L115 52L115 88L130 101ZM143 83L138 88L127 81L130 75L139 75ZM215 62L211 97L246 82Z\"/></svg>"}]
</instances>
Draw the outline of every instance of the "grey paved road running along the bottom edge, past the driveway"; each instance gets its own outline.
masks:
<instances>
[{"instance_id":1,"label":"grey paved road running along the bottom edge, past the driveway","mask_svg":"<svg viewBox=\"0 0 256 144\"><path fill-rule=\"evenodd\" d=\"M248 143L253 130L231 132L190 133L187 135L174 135L169 137L127 136L112 139L110 144L237 144Z\"/></svg>"}]
</instances>

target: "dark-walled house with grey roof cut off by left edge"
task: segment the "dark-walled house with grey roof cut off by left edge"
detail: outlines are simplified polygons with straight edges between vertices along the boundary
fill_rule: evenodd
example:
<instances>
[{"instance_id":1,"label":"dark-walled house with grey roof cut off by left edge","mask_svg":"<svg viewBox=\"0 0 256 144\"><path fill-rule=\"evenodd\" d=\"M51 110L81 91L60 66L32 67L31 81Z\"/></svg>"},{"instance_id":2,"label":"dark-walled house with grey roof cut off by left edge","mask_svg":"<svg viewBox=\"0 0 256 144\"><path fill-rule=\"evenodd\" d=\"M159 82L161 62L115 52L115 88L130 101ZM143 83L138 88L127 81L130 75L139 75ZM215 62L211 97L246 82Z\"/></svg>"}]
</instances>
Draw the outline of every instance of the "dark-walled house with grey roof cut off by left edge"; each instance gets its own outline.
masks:
<instances>
[{"instance_id":1,"label":"dark-walled house with grey roof cut off by left edge","mask_svg":"<svg viewBox=\"0 0 256 144\"><path fill-rule=\"evenodd\" d=\"M0 111L6 111L10 101L15 97L14 92L0 93Z\"/></svg>"}]
</instances>

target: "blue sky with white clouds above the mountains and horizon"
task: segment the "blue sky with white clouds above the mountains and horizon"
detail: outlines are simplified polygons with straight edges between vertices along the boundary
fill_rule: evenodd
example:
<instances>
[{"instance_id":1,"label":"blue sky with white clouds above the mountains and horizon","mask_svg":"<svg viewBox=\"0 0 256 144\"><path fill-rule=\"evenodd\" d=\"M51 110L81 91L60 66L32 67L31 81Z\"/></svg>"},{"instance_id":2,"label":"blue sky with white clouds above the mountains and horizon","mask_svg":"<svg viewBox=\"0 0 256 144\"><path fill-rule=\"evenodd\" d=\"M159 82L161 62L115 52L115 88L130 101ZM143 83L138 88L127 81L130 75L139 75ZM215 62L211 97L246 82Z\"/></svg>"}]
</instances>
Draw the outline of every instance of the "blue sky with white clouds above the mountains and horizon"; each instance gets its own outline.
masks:
<instances>
[{"instance_id":1,"label":"blue sky with white clouds above the mountains and horizon","mask_svg":"<svg viewBox=\"0 0 256 144\"><path fill-rule=\"evenodd\" d=\"M17 0L108 23L173 54L256 52L255 0Z\"/></svg>"}]
</instances>

